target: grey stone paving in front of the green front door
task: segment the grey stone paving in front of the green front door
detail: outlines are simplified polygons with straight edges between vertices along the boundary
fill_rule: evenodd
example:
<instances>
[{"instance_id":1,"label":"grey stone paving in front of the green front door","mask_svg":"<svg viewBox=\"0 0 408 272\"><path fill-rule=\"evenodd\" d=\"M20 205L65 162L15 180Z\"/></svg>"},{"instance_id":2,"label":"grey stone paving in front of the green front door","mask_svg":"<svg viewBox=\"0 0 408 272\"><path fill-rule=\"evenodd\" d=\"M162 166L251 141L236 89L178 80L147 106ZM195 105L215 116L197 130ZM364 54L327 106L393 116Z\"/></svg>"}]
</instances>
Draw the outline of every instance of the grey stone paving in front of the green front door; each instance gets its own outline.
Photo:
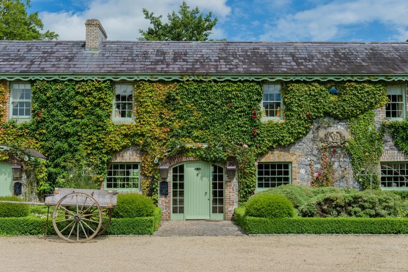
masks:
<instances>
[{"instance_id":1,"label":"grey stone paving in front of the green front door","mask_svg":"<svg viewBox=\"0 0 408 272\"><path fill-rule=\"evenodd\" d=\"M162 221L153 236L238 236L246 235L233 221Z\"/></svg>"}]
</instances>

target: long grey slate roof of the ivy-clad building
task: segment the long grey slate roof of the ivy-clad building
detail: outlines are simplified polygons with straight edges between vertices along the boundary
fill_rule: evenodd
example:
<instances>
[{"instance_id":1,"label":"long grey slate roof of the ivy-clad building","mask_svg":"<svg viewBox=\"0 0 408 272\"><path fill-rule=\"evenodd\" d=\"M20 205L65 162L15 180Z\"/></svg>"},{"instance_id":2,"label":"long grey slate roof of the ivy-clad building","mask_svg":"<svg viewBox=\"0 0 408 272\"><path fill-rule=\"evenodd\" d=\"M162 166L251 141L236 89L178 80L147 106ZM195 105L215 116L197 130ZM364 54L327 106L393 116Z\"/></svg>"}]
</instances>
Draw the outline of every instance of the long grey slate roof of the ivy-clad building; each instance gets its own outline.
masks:
<instances>
[{"instance_id":1,"label":"long grey slate roof of the ivy-clad building","mask_svg":"<svg viewBox=\"0 0 408 272\"><path fill-rule=\"evenodd\" d=\"M408 74L408 43L0 41L0 73Z\"/></svg>"}]
</instances>

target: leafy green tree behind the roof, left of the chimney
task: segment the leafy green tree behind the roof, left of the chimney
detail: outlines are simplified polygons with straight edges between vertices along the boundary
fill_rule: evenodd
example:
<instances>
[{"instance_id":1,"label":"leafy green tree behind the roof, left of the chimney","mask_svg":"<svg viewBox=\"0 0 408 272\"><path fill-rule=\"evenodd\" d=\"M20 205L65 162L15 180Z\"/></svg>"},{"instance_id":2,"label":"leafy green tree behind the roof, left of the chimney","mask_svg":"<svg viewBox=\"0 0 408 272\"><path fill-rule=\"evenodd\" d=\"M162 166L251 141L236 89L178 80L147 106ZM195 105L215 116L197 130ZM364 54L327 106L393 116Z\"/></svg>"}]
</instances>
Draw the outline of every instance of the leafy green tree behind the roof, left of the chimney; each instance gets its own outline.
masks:
<instances>
[{"instance_id":1,"label":"leafy green tree behind the roof, left of the chimney","mask_svg":"<svg viewBox=\"0 0 408 272\"><path fill-rule=\"evenodd\" d=\"M27 14L30 0L0 0L0 40L57 40L59 35L47 30L38 12Z\"/></svg>"}]
</instances>

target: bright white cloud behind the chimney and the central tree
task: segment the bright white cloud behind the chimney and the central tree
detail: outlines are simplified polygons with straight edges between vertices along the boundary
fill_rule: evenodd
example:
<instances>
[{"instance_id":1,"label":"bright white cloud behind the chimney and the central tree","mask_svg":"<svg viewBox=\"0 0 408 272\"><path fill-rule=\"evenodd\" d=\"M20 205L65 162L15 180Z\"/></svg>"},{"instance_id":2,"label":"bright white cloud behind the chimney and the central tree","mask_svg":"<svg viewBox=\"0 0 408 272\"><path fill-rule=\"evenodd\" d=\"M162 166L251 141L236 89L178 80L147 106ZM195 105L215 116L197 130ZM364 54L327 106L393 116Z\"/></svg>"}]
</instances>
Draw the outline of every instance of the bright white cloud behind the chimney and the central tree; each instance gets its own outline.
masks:
<instances>
[{"instance_id":1,"label":"bright white cloud behind the chimney and the central tree","mask_svg":"<svg viewBox=\"0 0 408 272\"><path fill-rule=\"evenodd\" d=\"M87 3L87 2L84 2ZM147 29L148 20L144 19L142 9L146 8L155 15L167 14L179 10L179 0L92 0L84 12L41 12L44 29L55 31L60 40L85 40L85 20L99 19L109 40L135 40L139 29ZM226 0L187 0L190 8L199 7L203 13L213 11L214 16L224 17L231 12ZM213 30L221 33L220 30Z\"/></svg>"}]
</instances>

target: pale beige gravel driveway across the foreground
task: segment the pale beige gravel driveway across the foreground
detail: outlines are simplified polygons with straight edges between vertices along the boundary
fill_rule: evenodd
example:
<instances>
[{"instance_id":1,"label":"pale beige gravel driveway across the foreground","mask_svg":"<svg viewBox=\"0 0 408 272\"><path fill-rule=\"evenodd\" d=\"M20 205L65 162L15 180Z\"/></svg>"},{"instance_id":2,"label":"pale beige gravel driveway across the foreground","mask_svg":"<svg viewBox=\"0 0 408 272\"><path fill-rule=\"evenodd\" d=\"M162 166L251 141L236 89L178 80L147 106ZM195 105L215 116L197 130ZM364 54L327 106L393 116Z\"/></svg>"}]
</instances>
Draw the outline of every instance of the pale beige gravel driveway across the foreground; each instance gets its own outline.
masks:
<instances>
[{"instance_id":1,"label":"pale beige gravel driveway across the foreground","mask_svg":"<svg viewBox=\"0 0 408 272\"><path fill-rule=\"evenodd\" d=\"M407 235L0 237L1 271L408 270Z\"/></svg>"}]
</instances>

